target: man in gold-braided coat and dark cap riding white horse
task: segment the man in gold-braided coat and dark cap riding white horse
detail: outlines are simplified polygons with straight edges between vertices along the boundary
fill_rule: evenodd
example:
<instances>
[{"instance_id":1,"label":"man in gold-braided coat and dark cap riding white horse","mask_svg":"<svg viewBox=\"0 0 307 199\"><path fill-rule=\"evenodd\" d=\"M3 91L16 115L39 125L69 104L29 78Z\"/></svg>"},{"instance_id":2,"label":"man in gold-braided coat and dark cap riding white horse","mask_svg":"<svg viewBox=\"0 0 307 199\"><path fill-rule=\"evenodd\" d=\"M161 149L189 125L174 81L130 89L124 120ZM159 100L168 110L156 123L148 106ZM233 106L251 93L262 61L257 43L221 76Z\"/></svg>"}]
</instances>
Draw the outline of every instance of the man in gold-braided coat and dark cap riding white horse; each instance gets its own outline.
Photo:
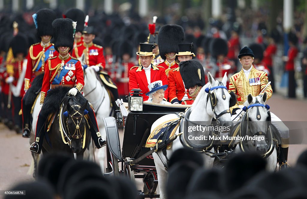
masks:
<instances>
[{"instance_id":1,"label":"man in gold-braided coat and dark cap riding white horse","mask_svg":"<svg viewBox=\"0 0 307 199\"><path fill-rule=\"evenodd\" d=\"M267 73L263 71L258 71L252 65L254 62L253 51L245 46L240 50L238 55L239 61L242 64L242 69L240 72L235 73L230 77L229 82L229 92L233 91L237 96L237 104L230 107L232 117L234 118L237 114L241 112L243 108L243 103L247 100L248 94L252 96L258 96L260 92L268 84ZM267 94L267 99L272 96L271 85L268 85L264 90ZM271 112L272 124L278 129L280 136L282 138L281 152L279 155L279 165L281 167L287 167L288 149L289 149L289 129L284 123Z\"/></svg>"}]
</instances>

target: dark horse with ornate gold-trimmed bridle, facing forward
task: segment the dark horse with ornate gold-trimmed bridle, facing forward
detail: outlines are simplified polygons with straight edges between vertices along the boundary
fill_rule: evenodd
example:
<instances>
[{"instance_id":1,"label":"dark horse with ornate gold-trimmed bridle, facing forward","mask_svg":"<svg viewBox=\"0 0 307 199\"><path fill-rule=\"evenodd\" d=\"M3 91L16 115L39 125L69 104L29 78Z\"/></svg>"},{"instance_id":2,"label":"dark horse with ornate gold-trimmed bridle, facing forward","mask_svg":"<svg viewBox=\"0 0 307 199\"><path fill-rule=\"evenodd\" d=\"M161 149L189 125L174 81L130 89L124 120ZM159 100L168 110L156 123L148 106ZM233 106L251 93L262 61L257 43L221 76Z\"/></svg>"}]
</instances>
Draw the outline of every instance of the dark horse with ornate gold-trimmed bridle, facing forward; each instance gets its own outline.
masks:
<instances>
[{"instance_id":1,"label":"dark horse with ornate gold-trimmed bridle, facing forward","mask_svg":"<svg viewBox=\"0 0 307 199\"><path fill-rule=\"evenodd\" d=\"M66 89L63 89L62 92L65 92ZM43 154L61 151L78 159L83 158L91 138L90 121L86 117L87 107L88 101L80 93L76 97L64 97L45 135Z\"/></svg>"}]
</instances>

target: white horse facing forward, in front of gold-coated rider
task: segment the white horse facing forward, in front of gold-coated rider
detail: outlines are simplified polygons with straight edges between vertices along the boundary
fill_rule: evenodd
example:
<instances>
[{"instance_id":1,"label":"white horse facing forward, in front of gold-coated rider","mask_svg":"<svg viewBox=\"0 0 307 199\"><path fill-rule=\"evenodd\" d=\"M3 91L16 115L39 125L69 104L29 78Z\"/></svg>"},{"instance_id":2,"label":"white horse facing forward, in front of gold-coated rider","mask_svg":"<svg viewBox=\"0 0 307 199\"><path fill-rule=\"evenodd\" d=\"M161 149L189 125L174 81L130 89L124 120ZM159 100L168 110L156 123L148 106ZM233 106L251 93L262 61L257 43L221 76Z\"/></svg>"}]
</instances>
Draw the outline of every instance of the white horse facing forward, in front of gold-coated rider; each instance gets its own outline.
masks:
<instances>
[{"instance_id":1,"label":"white horse facing forward, in front of gold-coated rider","mask_svg":"<svg viewBox=\"0 0 307 199\"><path fill-rule=\"evenodd\" d=\"M267 161L267 170L274 171L277 165L277 152L274 145L273 135L270 134L272 128L270 125L270 112L265 106L267 99L266 92L261 96L253 97L251 94L247 96L247 101L244 106L247 107L246 115L243 115L243 119L240 124L240 128L244 128L243 135L250 136L254 140L245 140L243 145L237 144L235 147L235 153L241 153L243 150L255 151L261 154ZM242 135L239 135L242 136ZM270 141L268 143L268 141Z\"/></svg>"}]
</instances>

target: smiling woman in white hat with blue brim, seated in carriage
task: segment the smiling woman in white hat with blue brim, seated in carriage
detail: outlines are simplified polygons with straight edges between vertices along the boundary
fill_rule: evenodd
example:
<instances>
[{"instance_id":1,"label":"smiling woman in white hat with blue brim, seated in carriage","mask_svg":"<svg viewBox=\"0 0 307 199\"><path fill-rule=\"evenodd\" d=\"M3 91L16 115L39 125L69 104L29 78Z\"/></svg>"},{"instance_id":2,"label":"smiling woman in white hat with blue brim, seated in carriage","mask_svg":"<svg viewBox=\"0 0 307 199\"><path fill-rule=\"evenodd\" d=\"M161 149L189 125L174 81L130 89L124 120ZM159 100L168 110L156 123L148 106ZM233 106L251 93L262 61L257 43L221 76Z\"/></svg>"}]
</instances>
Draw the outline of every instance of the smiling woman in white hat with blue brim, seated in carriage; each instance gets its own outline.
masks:
<instances>
[{"instance_id":1,"label":"smiling woman in white hat with blue brim, seated in carriage","mask_svg":"<svg viewBox=\"0 0 307 199\"><path fill-rule=\"evenodd\" d=\"M162 84L162 80L150 83L148 85L149 92L146 93L146 96L149 96L149 99L146 100L145 102L171 104L170 102L163 100L167 86L168 85Z\"/></svg>"}]
</instances>

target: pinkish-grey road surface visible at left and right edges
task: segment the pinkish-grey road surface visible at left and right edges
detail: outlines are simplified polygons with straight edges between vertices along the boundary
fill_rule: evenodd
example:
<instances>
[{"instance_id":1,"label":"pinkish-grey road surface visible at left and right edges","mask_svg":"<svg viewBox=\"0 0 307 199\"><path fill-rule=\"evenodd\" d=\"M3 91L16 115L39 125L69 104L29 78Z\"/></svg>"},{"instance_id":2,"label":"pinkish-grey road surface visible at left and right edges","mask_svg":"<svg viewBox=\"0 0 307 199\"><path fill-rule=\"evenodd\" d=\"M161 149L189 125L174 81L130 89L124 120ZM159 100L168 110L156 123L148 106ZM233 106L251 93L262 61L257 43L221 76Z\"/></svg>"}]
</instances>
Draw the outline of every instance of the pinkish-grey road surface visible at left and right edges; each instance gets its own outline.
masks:
<instances>
[{"instance_id":1,"label":"pinkish-grey road surface visible at left and right edges","mask_svg":"<svg viewBox=\"0 0 307 199\"><path fill-rule=\"evenodd\" d=\"M283 121L307 121L307 100L285 99L274 94L267 104ZM0 124L0 146L0 190L8 189L18 181L32 181L32 174L27 174L32 158L29 140ZM290 165L295 164L298 155L305 149L307 145L290 145Z\"/></svg>"}]
</instances>

